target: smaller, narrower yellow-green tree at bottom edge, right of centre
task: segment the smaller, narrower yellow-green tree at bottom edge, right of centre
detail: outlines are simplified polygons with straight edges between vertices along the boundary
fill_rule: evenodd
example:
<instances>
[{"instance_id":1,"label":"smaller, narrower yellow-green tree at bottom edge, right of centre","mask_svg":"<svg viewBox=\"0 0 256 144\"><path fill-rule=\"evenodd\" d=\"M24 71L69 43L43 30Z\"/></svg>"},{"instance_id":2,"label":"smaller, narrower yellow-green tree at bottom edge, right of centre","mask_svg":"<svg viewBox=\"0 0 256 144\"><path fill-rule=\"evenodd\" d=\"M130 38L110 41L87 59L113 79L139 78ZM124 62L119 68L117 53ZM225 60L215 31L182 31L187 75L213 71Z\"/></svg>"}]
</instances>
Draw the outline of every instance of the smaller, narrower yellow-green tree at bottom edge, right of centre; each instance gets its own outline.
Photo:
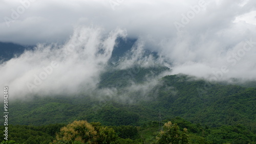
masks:
<instances>
[{"instance_id":1,"label":"smaller, narrower yellow-green tree at bottom edge, right of centre","mask_svg":"<svg viewBox=\"0 0 256 144\"><path fill-rule=\"evenodd\" d=\"M164 131L160 131L157 136L156 143L189 143L186 128L181 132L177 124L167 122L164 124L163 129Z\"/></svg>"}]
</instances>

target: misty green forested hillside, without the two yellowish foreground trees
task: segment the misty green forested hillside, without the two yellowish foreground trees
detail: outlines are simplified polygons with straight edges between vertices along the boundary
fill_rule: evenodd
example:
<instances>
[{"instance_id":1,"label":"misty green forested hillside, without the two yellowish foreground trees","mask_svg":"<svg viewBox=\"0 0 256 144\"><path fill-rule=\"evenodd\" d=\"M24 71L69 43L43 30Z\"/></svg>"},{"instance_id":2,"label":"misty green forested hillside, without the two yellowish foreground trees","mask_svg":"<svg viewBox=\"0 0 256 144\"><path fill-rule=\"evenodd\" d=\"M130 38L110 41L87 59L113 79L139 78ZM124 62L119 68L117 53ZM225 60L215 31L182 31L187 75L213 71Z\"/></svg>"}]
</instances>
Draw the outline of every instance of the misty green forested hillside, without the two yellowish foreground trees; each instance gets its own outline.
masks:
<instances>
[{"instance_id":1,"label":"misty green forested hillside, without the two yellowish foreground trees","mask_svg":"<svg viewBox=\"0 0 256 144\"><path fill-rule=\"evenodd\" d=\"M133 126L138 127L136 135L120 137L132 137L131 140L135 143L151 143L158 135L159 125L172 121L181 130L188 129L189 139L193 143L256 141L256 88L209 83L180 74L158 79L154 87L147 88L146 92L127 91L127 87L134 84L146 85L149 78L158 76L164 70L168 69L137 67L133 70L112 70L101 75L99 88L90 94L82 92L54 97L37 95L26 101L10 101L9 124L13 125L11 129L32 129L40 133L38 127L57 127L76 120L87 120L90 123L99 122L103 126L112 126L115 131L120 131L119 136L125 135L123 129L126 129L118 128L119 126ZM122 78L123 76L129 77ZM120 81L121 85L116 84ZM98 95L98 91L113 87L117 89L116 93ZM125 100L121 101L119 94L126 97ZM59 129L52 131L58 132ZM55 132L40 135L54 139ZM12 139L19 141L18 137Z\"/></svg>"}]
</instances>

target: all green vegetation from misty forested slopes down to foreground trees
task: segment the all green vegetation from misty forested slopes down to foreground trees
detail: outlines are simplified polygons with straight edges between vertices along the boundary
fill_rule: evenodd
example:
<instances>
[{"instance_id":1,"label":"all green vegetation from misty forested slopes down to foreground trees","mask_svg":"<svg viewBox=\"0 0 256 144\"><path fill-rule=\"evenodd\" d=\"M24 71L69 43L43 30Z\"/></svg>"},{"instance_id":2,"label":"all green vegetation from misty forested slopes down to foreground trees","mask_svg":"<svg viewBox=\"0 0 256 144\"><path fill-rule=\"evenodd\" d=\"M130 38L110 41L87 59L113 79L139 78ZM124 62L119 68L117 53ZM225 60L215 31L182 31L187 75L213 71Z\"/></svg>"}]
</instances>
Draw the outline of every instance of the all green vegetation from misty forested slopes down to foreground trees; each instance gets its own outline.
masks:
<instances>
[{"instance_id":1,"label":"all green vegetation from misty forested slopes down to foreground trees","mask_svg":"<svg viewBox=\"0 0 256 144\"><path fill-rule=\"evenodd\" d=\"M172 75L159 79L146 92L126 91L135 82L144 85L148 78L166 69L135 67L102 74L98 89L116 88L116 95L98 95L96 91L91 95L37 95L27 101L10 101L9 124L12 125L8 127L8 140L17 143L256 142L255 87ZM120 101L115 97L119 94L125 94L130 101ZM3 131L0 138L4 139Z\"/></svg>"}]
</instances>

